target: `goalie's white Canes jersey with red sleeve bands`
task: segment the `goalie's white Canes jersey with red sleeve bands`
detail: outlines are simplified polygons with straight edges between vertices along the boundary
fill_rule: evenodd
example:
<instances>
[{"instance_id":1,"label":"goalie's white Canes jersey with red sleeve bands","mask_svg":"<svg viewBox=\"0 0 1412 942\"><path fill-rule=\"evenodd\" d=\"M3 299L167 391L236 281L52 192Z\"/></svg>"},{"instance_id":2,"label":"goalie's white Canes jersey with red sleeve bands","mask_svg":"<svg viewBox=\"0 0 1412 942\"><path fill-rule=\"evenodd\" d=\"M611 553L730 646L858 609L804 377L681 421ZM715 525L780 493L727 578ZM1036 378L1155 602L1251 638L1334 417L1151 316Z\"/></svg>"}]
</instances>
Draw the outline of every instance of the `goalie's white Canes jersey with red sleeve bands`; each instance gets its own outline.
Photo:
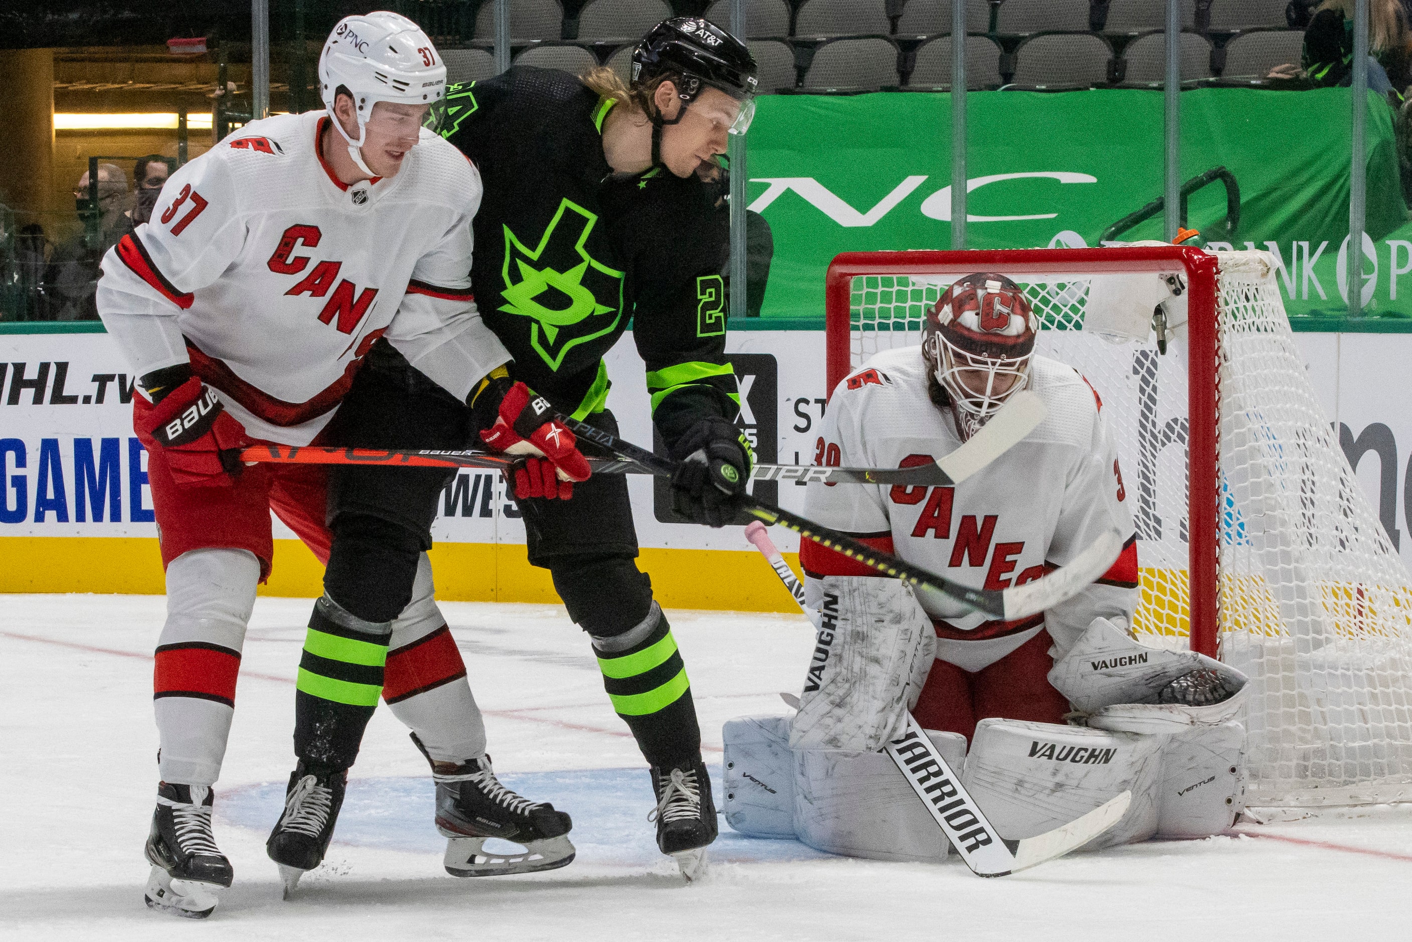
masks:
<instances>
[{"instance_id":1,"label":"goalie's white Canes jersey with red sleeve bands","mask_svg":"<svg viewBox=\"0 0 1412 942\"><path fill-rule=\"evenodd\" d=\"M1063 604L1019 621L993 621L919 592L939 638L938 657L979 671L1048 628L1066 652L1093 619L1131 624L1138 602L1132 517L1117 445L1099 394L1070 366L1035 356L1028 388L1048 415L1019 443L955 487L809 484L805 514L962 585L1005 589L1038 579L1118 531L1123 555ZM949 410L928 395L921 347L878 353L833 391L816 462L853 467L931 463L960 448ZM877 575L805 541L799 552L810 603L825 575Z\"/></svg>"}]
</instances>

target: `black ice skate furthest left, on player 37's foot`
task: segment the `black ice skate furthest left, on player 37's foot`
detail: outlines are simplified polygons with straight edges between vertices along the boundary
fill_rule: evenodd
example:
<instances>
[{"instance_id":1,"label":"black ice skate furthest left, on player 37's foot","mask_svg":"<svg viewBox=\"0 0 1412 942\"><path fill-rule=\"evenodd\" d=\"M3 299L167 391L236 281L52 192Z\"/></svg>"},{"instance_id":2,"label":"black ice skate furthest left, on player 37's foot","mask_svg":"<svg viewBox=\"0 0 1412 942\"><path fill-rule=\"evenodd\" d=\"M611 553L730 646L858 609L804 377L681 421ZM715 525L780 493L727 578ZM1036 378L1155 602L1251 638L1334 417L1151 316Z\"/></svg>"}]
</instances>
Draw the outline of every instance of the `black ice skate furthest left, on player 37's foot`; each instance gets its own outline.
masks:
<instances>
[{"instance_id":1,"label":"black ice skate furthest left, on player 37's foot","mask_svg":"<svg viewBox=\"0 0 1412 942\"><path fill-rule=\"evenodd\" d=\"M205 919L216 908L217 888L234 870L210 833L216 794L208 785L157 785L157 809L147 837L152 873L144 898L152 910Z\"/></svg>"}]
</instances>

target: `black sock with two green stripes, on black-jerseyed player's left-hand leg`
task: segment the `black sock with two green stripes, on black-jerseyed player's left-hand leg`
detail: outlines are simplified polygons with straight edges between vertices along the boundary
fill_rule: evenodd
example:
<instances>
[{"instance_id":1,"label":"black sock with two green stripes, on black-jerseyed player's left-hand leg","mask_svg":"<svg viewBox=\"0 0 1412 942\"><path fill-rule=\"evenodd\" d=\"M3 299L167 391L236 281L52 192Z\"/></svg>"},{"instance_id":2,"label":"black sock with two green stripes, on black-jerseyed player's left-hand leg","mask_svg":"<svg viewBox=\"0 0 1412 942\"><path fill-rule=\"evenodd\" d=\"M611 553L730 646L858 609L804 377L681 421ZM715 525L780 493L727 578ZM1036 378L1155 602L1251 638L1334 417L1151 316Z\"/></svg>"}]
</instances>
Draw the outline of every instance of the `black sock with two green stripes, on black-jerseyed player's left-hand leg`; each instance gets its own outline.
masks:
<instances>
[{"instance_id":1,"label":"black sock with two green stripes, on black-jerseyed player's left-hand leg","mask_svg":"<svg viewBox=\"0 0 1412 942\"><path fill-rule=\"evenodd\" d=\"M390 621L364 621L323 596L313 604L294 695L294 753L349 768L383 693Z\"/></svg>"}]
</instances>

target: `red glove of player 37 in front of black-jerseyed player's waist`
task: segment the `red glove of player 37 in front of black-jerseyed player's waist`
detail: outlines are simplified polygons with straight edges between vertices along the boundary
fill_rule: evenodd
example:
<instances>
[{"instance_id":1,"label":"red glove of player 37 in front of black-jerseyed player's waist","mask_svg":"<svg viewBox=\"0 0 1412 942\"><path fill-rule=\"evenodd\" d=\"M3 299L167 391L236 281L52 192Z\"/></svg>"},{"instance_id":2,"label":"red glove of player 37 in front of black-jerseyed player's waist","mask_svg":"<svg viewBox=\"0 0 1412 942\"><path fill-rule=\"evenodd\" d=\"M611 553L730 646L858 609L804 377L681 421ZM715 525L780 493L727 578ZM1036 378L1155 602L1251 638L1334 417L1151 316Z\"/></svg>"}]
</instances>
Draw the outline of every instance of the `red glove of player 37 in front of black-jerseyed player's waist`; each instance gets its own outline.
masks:
<instances>
[{"instance_id":1,"label":"red glove of player 37 in front of black-jerseyed player's waist","mask_svg":"<svg viewBox=\"0 0 1412 942\"><path fill-rule=\"evenodd\" d=\"M515 383L500 400L494 425L480 434L497 452L528 456L514 469L520 500L568 500L573 496L573 482L589 479L589 462L579 452L578 439L552 414L549 400Z\"/></svg>"}]
</instances>

